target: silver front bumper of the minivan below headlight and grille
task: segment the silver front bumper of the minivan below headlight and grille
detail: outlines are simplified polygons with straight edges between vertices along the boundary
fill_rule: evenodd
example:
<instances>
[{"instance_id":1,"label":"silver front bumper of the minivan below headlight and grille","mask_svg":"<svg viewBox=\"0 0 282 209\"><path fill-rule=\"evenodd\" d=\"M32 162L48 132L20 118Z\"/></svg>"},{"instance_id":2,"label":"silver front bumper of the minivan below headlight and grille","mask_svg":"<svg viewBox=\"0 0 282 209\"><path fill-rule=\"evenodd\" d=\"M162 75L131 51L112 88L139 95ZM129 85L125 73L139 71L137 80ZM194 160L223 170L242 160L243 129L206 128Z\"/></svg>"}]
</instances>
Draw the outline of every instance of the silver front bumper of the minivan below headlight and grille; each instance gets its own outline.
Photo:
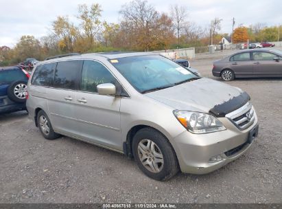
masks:
<instances>
[{"instance_id":1,"label":"silver front bumper of the minivan below headlight and grille","mask_svg":"<svg viewBox=\"0 0 282 209\"><path fill-rule=\"evenodd\" d=\"M253 140L249 140L249 133L258 126L257 118L252 126L244 131L239 131L227 118L220 120L226 126L225 131L207 134L185 131L174 138L176 155L183 173L210 173L246 153L253 144ZM258 130L258 127L255 130ZM257 136L257 132L254 136ZM212 157L219 155L220 161L210 161Z\"/></svg>"}]
</instances>

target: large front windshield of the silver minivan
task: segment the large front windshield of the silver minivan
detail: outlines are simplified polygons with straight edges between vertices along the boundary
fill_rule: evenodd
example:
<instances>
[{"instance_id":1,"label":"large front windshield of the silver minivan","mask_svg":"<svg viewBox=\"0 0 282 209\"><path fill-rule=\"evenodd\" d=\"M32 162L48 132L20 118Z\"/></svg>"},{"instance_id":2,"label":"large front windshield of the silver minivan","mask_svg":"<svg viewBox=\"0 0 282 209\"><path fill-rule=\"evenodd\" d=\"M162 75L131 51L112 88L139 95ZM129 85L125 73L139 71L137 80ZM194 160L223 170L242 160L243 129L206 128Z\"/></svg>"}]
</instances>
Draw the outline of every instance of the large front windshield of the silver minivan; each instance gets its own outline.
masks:
<instances>
[{"instance_id":1,"label":"large front windshield of the silver minivan","mask_svg":"<svg viewBox=\"0 0 282 209\"><path fill-rule=\"evenodd\" d=\"M141 93L172 87L200 77L160 55L131 56L110 60Z\"/></svg>"}]
</instances>

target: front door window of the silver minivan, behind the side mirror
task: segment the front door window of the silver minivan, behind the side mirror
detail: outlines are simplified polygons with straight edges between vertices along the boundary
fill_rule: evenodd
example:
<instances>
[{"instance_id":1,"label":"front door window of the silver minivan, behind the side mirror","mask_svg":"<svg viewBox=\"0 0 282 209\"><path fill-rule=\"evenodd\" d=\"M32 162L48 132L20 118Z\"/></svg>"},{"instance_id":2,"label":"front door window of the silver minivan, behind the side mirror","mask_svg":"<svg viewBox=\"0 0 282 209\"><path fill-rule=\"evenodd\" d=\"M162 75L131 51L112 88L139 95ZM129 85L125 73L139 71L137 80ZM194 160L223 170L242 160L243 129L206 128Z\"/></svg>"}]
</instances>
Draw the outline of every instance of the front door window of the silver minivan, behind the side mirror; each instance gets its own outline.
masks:
<instances>
[{"instance_id":1,"label":"front door window of the silver minivan, behind the side mirror","mask_svg":"<svg viewBox=\"0 0 282 209\"><path fill-rule=\"evenodd\" d=\"M102 83L116 83L112 74L102 65L95 61L84 61L82 69L81 90L97 93L97 85Z\"/></svg>"}]
</instances>

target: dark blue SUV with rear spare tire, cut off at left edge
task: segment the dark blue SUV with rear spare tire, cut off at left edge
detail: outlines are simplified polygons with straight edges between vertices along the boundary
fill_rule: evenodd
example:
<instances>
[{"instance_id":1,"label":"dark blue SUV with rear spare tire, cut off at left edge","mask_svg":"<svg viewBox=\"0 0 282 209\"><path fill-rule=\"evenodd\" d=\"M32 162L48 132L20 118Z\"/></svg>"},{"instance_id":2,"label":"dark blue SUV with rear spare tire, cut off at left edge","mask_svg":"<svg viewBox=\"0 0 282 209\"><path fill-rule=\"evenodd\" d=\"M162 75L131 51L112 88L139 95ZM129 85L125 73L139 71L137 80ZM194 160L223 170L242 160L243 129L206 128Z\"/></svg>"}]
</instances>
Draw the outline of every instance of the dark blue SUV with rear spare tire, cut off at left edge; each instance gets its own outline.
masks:
<instances>
[{"instance_id":1,"label":"dark blue SUV with rear spare tire, cut off at left edge","mask_svg":"<svg viewBox=\"0 0 282 209\"><path fill-rule=\"evenodd\" d=\"M25 109L28 78L21 67L0 68L0 114Z\"/></svg>"}]
</instances>

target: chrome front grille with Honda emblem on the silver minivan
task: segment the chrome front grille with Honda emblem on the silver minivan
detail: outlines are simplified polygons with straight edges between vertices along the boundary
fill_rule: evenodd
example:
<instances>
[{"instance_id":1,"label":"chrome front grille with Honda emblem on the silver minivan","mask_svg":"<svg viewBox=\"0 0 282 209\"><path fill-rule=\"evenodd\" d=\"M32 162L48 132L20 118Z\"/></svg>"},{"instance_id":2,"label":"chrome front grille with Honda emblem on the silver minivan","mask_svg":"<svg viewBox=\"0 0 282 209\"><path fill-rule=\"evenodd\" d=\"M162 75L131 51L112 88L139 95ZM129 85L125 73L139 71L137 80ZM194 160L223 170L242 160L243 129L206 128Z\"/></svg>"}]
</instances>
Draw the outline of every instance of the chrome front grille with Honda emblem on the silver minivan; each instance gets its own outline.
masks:
<instances>
[{"instance_id":1,"label":"chrome front grille with Honda emblem on the silver minivan","mask_svg":"<svg viewBox=\"0 0 282 209\"><path fill-rule=\"evenodd\" d=\"M244 130L255 122L256 114L252 104L247 102L239 109L226 114L225 117L231 120L239 130Z\"/></svg>"}]
</instances>

